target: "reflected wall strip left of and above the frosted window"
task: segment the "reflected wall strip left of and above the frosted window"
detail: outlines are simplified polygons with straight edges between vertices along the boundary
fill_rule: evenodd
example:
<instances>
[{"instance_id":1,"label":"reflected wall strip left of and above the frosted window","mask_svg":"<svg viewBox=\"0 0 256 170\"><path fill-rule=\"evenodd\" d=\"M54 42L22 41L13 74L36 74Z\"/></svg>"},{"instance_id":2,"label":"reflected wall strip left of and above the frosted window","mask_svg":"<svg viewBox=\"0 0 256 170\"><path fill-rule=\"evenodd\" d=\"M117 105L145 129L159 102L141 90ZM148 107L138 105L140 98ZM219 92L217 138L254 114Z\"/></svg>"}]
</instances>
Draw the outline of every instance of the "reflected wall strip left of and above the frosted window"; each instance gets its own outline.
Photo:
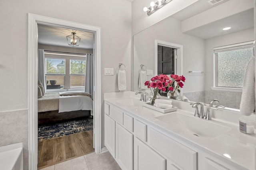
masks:
<instances>
[{"instance_id":1,"label":"reflected wall strip left of and above the frosted window","mask_svg":"<svg viewBox=\"0 0 256 170\"><path fill-rule=\"evenodd\" d=\"M205 90L213 86L213 48L253 40L253 28L205 40Z\"/></svg>"}]
</instances>

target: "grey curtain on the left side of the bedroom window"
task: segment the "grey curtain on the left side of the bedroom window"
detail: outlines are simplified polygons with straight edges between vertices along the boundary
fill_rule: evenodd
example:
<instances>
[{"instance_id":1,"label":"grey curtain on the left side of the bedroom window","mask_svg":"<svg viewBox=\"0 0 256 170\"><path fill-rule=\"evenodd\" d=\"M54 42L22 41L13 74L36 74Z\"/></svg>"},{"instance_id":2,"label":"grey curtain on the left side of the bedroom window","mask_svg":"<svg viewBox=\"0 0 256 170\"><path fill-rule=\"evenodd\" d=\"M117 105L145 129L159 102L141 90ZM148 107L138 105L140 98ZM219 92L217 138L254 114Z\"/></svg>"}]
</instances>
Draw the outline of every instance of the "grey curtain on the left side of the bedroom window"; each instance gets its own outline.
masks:
<instances>
[{"instance_id":1,"label":"grey curtain on the left side of the bedroom window","mask_svg":"<svg viewBox=\"0 0 256 170\"><path fill-rule=\"evenodd\" d=\"M44 74L44 50L38 49L38 80L40 80L44 86L44 92L46 92L46 81Z\"/></svg>"}]
</instances>

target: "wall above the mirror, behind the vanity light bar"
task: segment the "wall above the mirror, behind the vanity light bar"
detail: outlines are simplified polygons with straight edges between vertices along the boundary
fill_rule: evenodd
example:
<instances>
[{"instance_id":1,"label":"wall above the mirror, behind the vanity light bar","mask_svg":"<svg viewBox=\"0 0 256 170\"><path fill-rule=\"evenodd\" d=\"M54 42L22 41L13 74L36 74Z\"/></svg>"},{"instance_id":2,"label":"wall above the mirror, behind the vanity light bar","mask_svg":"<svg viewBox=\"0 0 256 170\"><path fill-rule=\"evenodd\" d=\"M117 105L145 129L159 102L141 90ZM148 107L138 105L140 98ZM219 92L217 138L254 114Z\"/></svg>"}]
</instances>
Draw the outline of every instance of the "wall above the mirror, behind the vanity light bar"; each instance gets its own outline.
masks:
<instances>
[{"instance_id":1,"label":"wall above the mirror, behind the vanity light bar","mask_svg":"<svg viewBox=\"0 0 256 170\"><path fill-rule=\"evenodd\" d=\"M157 0L153 0L156 2ZM175 14L198 0L173 0L154 14L148 16L143 11L144 7L150 7L152 0L134 0L132 2L132 35L158 23L159 21Z\"/></svg>"}]
</instances>

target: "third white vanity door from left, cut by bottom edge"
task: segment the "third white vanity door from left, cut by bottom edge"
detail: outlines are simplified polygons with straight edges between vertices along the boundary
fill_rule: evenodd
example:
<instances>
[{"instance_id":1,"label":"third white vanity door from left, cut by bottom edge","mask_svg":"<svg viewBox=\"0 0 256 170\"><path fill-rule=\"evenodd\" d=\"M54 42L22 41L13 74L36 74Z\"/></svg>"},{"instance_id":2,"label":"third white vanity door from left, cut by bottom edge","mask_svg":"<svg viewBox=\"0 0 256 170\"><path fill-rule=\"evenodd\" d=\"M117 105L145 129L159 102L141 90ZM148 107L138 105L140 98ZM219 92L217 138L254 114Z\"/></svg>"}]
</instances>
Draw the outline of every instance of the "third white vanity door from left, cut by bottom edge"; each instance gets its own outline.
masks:
<instances>
[{"instance_id":1,"label":"third white vanity door from left, cut by bottom edge","mask_svg":"<svg viewBox=\"0 0 256 170\"><path fill-rule=\"evenodd\" d=\"M134 137L134 170L166 170L166 159Z\"/></svg>"}]
</instances>

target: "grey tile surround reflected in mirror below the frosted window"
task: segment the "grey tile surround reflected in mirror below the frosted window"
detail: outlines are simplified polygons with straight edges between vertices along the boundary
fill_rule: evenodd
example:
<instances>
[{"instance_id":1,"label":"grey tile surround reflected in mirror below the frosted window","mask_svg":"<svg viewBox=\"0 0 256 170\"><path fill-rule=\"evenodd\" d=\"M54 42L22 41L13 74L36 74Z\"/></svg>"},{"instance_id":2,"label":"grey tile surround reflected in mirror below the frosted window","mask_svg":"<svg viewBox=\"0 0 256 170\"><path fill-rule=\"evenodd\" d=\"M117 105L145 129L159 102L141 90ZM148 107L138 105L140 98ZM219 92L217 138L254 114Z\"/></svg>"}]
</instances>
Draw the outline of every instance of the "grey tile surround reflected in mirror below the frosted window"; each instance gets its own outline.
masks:
<instances>
[{"instance_id":1,"label":"grey tile surround reflected in mirror below the frosted window","mask_svg":"<svg viewBox=\"0 0 256 170\"><path fill-rule=\"evenodd\" d=\"M242 92L206 90L198 92L183 92L183 95L186 96L190 101L200 101L204 102L205 104L209 104L213 99L218 99L220 102L215 102L214 105L222 105L229 108L239 109ZM227 100L227 98L232 99L232 101Z\"/></svg>"}]
</instances>

